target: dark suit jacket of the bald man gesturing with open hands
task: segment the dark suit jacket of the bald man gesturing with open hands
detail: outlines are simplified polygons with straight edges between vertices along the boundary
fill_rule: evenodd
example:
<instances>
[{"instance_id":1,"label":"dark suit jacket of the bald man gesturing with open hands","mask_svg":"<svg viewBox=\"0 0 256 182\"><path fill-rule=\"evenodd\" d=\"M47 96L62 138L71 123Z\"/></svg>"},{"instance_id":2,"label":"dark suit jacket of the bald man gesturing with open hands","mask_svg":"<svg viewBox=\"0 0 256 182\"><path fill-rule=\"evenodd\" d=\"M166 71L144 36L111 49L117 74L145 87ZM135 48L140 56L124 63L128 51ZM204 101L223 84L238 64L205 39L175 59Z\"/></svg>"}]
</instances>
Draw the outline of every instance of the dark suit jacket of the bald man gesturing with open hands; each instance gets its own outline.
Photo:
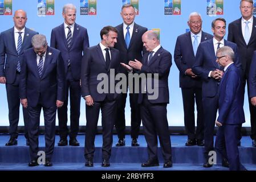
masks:
<instances>
[{"instance_id":1,"label":"dark suit jacket of the bald man gesturing with open hands","mask_svg":"<svg viewBox=\"0 0 256 182\"><path fill-rule=\"evenodd\" d=\"M148 64L148 56L149 52L145 53L142 59L143 66L141 67L140 73L158 73L159 74L159 85L158 92L159 95L156 100L149 100L152 104L168 104L169 103L169 86L168 86L168 76L170 72L170 67L172 66L172 55L170 52L166 51L164 48L160 48L157 50L155 55L149 61ZM152 76L152 78L154 78ZM141 82L143 84L143 81ZM154 79L152 79L152 88L155 88ZM144 85L140 86L140 89L144 88ZM147 95L149 94L147 92ZM138 103L141 104L143 102L143 92L139 93Z\"/></svg>"}]
</instances>

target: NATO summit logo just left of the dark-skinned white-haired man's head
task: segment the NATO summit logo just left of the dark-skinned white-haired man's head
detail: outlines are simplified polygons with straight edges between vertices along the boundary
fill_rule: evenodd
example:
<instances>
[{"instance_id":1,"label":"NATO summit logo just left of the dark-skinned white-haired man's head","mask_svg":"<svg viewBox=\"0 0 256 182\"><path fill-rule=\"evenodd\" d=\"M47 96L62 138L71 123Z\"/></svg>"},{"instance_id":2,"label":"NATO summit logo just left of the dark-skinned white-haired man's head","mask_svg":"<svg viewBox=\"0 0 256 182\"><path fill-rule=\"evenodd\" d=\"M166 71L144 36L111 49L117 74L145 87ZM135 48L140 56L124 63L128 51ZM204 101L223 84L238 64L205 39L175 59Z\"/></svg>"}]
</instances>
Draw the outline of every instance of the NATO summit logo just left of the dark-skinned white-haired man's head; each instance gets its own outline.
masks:
<instances>
[{"instance_id":1,"label":"NATO summit logo just left of the dark-skinned white-haired man's head","mask_svg":"<svg viewBox=\"0 0 256 182\"><path fill-rule=\"evenodd\" d=\"M165 15L181 15L181 0L164 0Z\"/></svg>"}]
</instances>

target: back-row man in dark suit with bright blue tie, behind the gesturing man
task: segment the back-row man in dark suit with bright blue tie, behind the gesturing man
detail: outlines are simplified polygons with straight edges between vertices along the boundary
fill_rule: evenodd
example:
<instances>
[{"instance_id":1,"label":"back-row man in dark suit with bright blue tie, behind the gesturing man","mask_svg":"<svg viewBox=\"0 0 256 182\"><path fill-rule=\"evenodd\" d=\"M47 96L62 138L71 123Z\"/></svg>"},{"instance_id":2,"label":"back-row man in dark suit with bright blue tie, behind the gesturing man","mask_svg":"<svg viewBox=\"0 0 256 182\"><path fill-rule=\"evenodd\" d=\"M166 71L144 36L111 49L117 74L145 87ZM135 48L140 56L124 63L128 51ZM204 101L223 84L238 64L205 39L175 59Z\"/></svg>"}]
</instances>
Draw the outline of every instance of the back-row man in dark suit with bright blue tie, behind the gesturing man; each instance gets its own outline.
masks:
<instances>
[{"instance_id":1,"label":"back-row man in dark suit with bright blue tie, behind the gesturing man","mask_svg":"<svg viewBox=\"0 0 256 182\"><path fill-rule=\"evenodd\" d=\"M131 4L123 5L121 8L121 17L124 20L124 23L116 26L118 31L118 39L115 44L115 48L119 50L121 60L128 64L129 60L139 60L142 59L143 43L141 41L141 36L147 31L147 28L140 26L134 22L135 19L135 8ZM128 77L128 72L121 68L123 72ZM121 93L117 97L117 115L115 127L118 135L118 142L116 146L125 146L125 103L126 103L127 93ZM131 107L131 137L132 137L132 146L139 146L137 138L139 135L141 117L140 109L137 104L138 94L129 93L129 101Z\"/></svg>"}]
</instances>

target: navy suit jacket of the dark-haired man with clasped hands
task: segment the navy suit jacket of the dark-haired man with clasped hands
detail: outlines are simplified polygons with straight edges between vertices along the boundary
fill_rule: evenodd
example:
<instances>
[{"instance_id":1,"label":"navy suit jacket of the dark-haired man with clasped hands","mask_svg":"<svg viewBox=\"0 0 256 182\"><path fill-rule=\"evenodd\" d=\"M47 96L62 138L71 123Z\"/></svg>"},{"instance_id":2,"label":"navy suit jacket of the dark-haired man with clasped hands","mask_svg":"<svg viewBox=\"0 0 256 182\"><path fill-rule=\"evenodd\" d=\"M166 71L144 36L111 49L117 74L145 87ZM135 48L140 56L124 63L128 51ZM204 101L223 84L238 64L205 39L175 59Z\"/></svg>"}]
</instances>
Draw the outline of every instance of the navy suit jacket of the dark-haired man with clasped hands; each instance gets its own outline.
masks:
<instances>
[{"instance_id":1,"label":"navy suit jacket of the dark-haired man with clasped hands","mask_svg":"<svg viewBox=\"0 0 256 182\"><path fill-rule=\"evenodd\" d=\"M224 46L229 46L233 49L235 53L234 63L237 67L241 67L237 44L224 40ZM218 80L208 77L209 72L215 69L220 69L220 67L216 62L213 39L210 39L199 44L196 62L192 67L192 71L202 78L202 97L214 97L217 94Z\"/></svg>"}]
</instances>

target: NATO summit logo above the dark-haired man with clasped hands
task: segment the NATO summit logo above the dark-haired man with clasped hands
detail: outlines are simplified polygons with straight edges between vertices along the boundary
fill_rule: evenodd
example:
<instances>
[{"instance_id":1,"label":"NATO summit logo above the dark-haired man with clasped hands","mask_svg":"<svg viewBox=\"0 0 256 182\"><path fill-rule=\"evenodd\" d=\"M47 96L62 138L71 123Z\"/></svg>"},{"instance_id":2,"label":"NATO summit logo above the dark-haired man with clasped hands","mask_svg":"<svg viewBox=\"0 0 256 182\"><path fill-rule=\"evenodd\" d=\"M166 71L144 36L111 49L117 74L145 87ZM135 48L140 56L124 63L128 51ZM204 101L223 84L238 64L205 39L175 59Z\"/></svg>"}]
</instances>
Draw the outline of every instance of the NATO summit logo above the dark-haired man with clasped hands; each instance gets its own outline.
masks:
<instances>
[{"instance_id":1,"label":"NATO summit logo above the dark-haired man with clasped hands","mask_svg":"<svg viewBox=\"0 0 256 182\"><path fill-rule=\"evenodd\" d=\"M223 15L224 0L207 0L206 14L209 16Z\"/></svg>"}]
</instances>

